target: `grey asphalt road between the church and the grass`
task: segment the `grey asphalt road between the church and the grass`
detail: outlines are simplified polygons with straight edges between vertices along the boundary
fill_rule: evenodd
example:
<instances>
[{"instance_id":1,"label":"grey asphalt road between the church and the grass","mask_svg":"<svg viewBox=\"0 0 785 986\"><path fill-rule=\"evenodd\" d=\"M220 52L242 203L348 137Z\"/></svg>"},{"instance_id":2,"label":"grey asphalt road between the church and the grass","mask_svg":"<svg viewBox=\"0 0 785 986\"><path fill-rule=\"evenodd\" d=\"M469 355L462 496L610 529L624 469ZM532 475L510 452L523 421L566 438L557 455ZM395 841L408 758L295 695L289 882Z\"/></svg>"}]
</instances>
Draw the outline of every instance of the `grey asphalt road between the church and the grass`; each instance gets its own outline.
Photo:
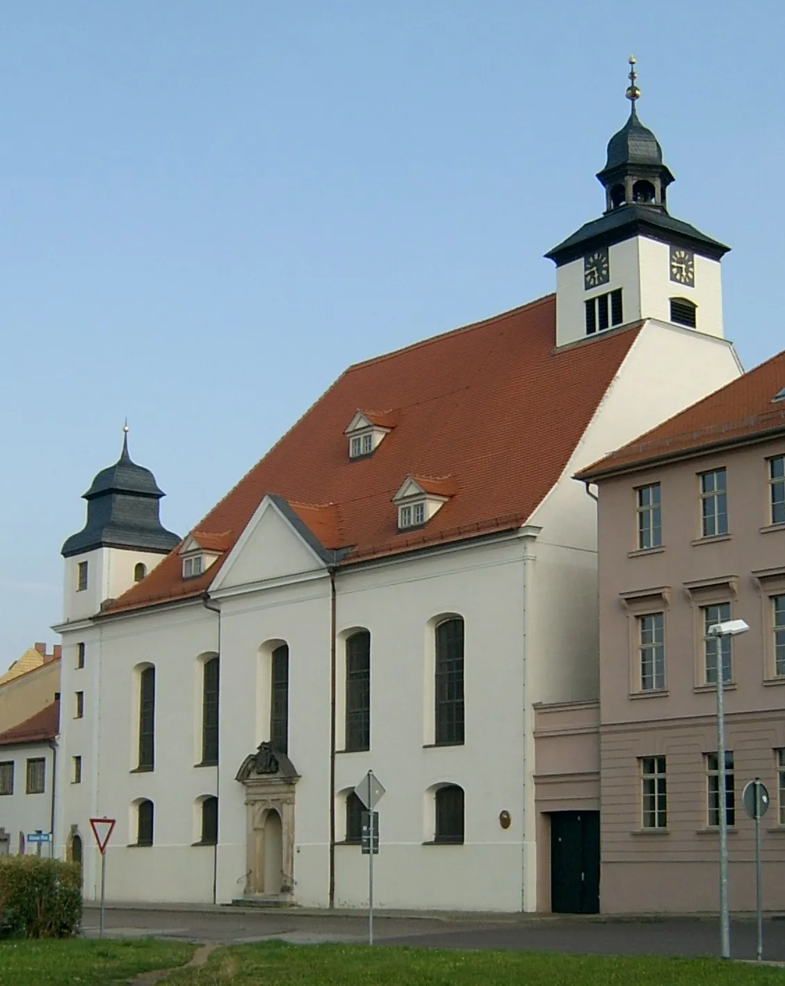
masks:
<instances>
[{"instance_id":1,"label":"grey asphalt road between the church and the grass","mask_svg":"<svg viewBox=\"0 0 785 986\"><path fill-rule=\"evenodd\" d=\"M85 911L86 934L96 935L99 913ZM156 935L198 942L240 944L282 939L298 945L367 941L367 918L359 915L270 914L227 908L222 911L158 911L107 909L111 936ZM381 945L434 949L513 949L573 951L617 955L717 955L716 920L607 921L580 918L539 920L464 917L420 918L377 916L376 941ZM734 958L754 958L754 921L733 924ZM763 957L785 961L785 921L763 926Z\"/></svg>"}]
</instances>

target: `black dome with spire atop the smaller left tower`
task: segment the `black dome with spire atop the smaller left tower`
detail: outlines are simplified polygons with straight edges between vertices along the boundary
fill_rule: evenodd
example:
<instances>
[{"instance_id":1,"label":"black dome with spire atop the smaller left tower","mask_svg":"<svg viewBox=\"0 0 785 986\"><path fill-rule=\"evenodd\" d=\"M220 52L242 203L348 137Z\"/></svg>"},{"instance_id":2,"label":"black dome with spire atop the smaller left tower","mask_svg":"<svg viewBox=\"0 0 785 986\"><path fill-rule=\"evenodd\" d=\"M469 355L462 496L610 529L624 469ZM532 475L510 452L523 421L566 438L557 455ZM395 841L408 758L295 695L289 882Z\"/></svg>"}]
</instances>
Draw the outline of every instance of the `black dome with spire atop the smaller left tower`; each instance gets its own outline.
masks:
<instances>
[{"instance_id":1,"label":"black dome with spire atop the smaller left tower","mask_svg":"<svg viewBox=\"0 0 785 986\"><path fill-rule=\"evenodd\" d=\"M168 554L179 537L161 525L159 510L164 495L150 469L131 460L126 434L120 458L102 469L83 494L87 523L65 541L63 556L100 547Z\"/></svg>"}]
</instances>

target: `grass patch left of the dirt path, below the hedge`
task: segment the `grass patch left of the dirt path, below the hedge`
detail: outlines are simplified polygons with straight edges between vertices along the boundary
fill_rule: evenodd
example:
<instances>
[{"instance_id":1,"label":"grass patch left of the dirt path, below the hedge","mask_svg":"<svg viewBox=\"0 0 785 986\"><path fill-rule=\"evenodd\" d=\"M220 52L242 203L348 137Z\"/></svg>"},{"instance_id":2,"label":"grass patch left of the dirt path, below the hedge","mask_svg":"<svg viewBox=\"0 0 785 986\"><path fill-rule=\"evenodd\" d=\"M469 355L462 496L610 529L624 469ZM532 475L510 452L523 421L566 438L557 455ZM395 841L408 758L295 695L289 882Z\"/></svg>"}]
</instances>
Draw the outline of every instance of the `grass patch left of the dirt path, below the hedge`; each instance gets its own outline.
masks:
<instances>
[{"instance_id":1,"label":"grass patch left of the dirt path, below the hedge","mask_svg":"<svg viewBox=\"0 0 785 986\"><path fill-rule=\"evenodd\" d=\"M0 986L108 986L137 972L182 965L194 948L154 939L0 942Z\"/></svg>"}]
</instances>

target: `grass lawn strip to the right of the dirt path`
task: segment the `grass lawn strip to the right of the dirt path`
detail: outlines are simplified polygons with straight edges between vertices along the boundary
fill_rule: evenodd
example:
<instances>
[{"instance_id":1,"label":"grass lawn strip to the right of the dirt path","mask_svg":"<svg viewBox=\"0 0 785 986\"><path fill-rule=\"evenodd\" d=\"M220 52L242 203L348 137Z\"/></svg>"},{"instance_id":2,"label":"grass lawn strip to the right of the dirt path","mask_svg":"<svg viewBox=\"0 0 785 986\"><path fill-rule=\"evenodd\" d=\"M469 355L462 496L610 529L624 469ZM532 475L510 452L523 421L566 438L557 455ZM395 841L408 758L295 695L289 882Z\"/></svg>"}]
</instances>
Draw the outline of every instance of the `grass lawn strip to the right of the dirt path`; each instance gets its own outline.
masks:
<instances>
[{"instance_id":1,"label":"grass lawn strip to the right of the dirt path","mask_svg":"<svg viewBox=\"0 0 785 986\"><path fill-rule=\"evenodd\" d=\"M607 958L265 942L214 951L166 986L751 986L785 971L714 959Z\"/></svg>"}]
</instances>

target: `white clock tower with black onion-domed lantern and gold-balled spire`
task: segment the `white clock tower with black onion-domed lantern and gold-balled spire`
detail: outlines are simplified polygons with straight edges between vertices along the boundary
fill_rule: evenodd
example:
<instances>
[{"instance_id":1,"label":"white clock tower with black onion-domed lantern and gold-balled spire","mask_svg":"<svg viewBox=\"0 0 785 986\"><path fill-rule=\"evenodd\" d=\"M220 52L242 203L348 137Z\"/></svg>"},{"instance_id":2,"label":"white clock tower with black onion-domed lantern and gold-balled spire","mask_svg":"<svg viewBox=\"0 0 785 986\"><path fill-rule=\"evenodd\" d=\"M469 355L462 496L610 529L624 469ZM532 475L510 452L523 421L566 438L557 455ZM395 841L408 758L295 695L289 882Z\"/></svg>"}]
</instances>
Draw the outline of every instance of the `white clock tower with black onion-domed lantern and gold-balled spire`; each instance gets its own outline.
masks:
<instances>
[{"instance_id":1,"label":"white clock tower with black onion-domed lantern and gold-balled spire","mask_svg":"<svg viewBox=\"0 0 785 986\"><path fill-rule=\"evenodd\" d=\"M674 176L638 119L635 59L630 115L607 144L598 178L606 211L545 255L556 263L556 345L645 319L723 337L720 260L729 247L668 213Z\"/></svg>"}]
</instances>

